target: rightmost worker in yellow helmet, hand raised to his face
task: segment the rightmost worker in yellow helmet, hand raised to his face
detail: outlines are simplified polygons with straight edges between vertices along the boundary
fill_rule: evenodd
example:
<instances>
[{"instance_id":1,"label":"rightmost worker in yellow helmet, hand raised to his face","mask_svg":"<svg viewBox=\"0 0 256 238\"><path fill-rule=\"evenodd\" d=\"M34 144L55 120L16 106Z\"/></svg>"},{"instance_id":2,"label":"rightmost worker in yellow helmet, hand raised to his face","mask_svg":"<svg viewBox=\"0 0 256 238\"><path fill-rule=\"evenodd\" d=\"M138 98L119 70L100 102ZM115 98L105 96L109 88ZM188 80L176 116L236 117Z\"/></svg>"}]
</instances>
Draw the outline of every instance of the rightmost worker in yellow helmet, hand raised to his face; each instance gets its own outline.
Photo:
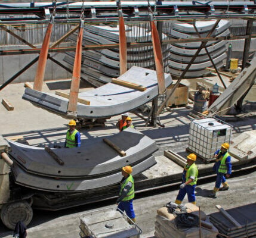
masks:
<instances>
[{"instance_id":1,"label":"rightmost worker in yellow helmet, hand raised to his face","mask_svg":"<svg viewBox=\"0 0 256 238\"><path fill-rule=\"evenodd\" d=\"M223 143L221 145L221 148L214 153L216 159L213 170L217 174L217 179L215 182L215 187L212 190L212 193L209 195L209 198L217 198L216 193L219 190L224 191L229 189L229 184L227 184L226 178L230 177L232 165L231 157L229 155L229 152L227 152L228 149L229 143ZM223 187L220 188L220 184L222 184Z\"/></svg>"}]
</instances>

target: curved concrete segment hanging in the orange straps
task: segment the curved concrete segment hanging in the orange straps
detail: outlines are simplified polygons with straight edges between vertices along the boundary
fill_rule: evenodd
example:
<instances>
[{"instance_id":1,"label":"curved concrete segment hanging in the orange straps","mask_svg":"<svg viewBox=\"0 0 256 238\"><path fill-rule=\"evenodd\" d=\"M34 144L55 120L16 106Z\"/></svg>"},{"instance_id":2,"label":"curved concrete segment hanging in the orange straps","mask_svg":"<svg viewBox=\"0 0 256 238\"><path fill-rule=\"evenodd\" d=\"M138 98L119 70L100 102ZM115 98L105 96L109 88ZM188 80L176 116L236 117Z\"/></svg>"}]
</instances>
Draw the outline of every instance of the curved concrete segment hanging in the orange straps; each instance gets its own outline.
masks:
<instances>
[{"instance_id":1,"label":"curved concrete segment hanging in the orange straps","mask_svg":"<svg viewBox=\"0 0 256 238\"><path fill-rule=\"evenodd\" d=\"M97 89L81 92L79 98L90 101L90 105L78 103L76 117L106 118L119 115L146 104L158 95L158 80L154 70L134 66L118 79L140 84L147 89L141 92L107 83ZM171 76L165 74L165 86L167 87L171 83ZM57 114L66 115L68 99L61 96L26 88L23 99Z\"/></svg>"}]
</instances>

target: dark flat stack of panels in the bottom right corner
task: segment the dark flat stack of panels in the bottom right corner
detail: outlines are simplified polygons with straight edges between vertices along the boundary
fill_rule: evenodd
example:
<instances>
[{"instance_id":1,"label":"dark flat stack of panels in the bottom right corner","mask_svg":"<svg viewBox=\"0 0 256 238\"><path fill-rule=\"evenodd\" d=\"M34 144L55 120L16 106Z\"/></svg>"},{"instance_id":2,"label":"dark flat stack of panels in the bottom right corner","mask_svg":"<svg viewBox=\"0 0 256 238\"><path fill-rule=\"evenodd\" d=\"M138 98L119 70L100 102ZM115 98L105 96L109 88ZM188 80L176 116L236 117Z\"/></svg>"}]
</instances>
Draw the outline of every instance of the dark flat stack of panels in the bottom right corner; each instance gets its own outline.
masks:
<instances>
[{"instance_id":1,"label":"dark flat stack of panels in the bottom right corner","mask_svg":"<svg viewBox=\"0 0 256 238\"><path fill-rule=\"evenodd\" d=\"M220 233L230 238L255 237L255 214L256 203L252 203L224 211L220 209L219 212L210 215L210 220Z\"/></svg>"}]
</instances>

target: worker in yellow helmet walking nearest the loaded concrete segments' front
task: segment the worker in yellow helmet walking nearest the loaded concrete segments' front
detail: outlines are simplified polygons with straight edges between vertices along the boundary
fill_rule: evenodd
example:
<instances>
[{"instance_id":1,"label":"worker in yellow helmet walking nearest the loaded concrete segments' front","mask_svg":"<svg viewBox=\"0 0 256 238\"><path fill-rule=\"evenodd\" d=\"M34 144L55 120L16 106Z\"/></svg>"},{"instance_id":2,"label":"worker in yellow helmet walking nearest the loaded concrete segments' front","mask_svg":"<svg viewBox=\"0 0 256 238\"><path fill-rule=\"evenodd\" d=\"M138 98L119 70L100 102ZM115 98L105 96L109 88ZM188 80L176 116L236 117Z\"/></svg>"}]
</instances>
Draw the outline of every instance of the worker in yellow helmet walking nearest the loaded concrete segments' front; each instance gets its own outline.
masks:
<instances>
[{"instance_id":1,"label":"worker in yellow helmet walking nearest the loaded concrete segments' front","mask_svg":"<svg viewBox=\"0 0 256 238\"><path fill-rule=\"evenodd\" d=\"M118 208L121 211L125 211L129 218L135 222L135 214L132 205L132 201L134 198L134 180L131 175L132 167L127 165L122 167L122 180L120 182L120 191L119 197L116 200L116 204L118 204Z\"/></svg>"}]
</instances>

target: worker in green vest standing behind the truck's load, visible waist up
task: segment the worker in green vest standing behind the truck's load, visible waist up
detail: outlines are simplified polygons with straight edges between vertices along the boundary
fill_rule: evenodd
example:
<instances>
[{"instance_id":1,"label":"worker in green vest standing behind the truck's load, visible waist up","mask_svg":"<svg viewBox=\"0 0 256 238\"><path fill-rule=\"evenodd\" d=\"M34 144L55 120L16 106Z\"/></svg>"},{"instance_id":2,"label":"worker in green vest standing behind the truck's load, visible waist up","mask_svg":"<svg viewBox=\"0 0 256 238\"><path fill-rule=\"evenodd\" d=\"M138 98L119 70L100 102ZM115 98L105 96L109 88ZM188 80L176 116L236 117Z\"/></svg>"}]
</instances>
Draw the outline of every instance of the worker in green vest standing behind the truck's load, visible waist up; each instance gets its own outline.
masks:
<instances>
[{"instance_id":1,"label":"worker in green vest standing behind the truck's load, visible waist up","mask_svg":"<svg viewBox=\"0 0 256 238\"><path fill-rule=\"evenodd\" d=\"M66 148L80 147L81 146L81 135L78 130L76 130L76 121L69 121L69 130L66 133Z\"/></svg>"}]
</instances>

